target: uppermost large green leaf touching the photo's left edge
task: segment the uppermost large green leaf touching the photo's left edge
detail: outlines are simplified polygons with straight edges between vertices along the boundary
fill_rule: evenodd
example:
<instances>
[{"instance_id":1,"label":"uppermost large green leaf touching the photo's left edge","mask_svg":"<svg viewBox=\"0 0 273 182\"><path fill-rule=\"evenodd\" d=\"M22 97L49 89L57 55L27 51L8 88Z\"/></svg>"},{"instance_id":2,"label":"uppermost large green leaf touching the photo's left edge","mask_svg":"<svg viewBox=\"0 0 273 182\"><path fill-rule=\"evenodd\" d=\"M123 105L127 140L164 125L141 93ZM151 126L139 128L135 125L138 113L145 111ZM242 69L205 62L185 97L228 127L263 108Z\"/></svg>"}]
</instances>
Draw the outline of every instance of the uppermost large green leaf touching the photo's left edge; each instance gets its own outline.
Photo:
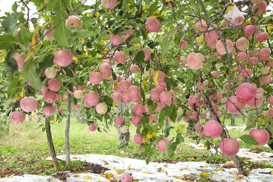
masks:
<instances>
[{"instance_id":1,"label":"uppermost large green leaf touching the photo's left edge","mask_svg":"<svg viewBox=\"0 0 273 182\"><path fill-rule=\"evenodd\" d=\"M1 22L3 28L5 28L6 32L12 34L16 27L16 22L20 16L23 16L22 12L16 12L11 16L5 17L5 19Z\"/></svg>"}]
</instances>

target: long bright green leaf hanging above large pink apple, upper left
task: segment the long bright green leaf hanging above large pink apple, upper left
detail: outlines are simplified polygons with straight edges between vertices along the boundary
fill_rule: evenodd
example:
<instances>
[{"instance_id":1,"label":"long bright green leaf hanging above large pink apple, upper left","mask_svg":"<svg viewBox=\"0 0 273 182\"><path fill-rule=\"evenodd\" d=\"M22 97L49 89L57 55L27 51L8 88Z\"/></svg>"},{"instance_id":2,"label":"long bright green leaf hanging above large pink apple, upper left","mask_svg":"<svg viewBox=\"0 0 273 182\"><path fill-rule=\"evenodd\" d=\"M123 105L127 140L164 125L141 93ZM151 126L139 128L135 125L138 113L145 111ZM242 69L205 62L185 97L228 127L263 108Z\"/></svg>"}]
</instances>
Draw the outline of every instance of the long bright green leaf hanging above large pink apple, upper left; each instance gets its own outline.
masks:
<instances>
[{"instance_id":1,"label":"long bright green leaf hanging above large pink apple, upper left","mask_svg":"<svg viewBox=\"0 0 273 182\"><path fill-rule=\"evenodd\" d=\"M67 13L64 11L64 7L62 5L62 1L58 1L56 4L56 16L53 18L53 25L57 25L61 22L57 27L53 29L53 35L56 40L60 43L61 47L70 47L67 42L68 37L70 36L70 30L65 26L64 19L67 16Z\"/></svg>"}]
</instances>

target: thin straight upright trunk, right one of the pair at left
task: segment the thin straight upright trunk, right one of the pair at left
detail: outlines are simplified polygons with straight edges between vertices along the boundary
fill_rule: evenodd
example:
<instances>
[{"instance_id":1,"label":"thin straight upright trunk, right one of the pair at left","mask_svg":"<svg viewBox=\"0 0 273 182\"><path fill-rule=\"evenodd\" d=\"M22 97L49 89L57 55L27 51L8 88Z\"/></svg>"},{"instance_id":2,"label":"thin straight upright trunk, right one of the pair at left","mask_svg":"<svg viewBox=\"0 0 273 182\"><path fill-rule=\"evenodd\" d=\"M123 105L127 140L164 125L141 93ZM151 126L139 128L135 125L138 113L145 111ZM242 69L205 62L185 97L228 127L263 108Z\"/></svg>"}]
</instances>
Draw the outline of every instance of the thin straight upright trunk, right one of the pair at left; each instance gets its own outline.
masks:
<instances>
[{"instance_id":1,"label":"thin straight upright trunk, right one of the pair at left","mask_svg":"<svg viewBox=\"0 0 273 182\"><path fill-rule=\"evenodd\" d=\"M70 169L70 148L69 148L69 127L70 127L70 110L71 110L71 95L67 95L67 112L65 127L65 155L66 155L66 170Z\"/></svg>"}]
</instances>

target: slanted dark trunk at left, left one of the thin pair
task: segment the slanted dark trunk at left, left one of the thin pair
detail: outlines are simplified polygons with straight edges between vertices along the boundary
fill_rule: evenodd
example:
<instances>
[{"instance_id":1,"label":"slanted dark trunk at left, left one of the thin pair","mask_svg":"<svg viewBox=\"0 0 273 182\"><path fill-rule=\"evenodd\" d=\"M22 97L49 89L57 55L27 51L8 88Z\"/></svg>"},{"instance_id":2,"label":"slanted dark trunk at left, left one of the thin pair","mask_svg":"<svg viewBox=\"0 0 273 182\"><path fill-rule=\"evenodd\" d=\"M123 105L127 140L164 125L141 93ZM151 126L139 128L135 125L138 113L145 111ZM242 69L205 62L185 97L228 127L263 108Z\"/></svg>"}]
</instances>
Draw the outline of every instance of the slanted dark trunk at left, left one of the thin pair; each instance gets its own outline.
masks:
<instances>
[{"instance_id":1,"label":"slanted dark trunk at left, left one of the thin pair","mask_svg":"<svg viewBox=\"0 0 273 182\"><path fill-rule=\"evenodd\" d=\"M60 171L60 166L59 166L59 162L58 162L57 157L56 157L56 152L55 152L54 144L53 144L53 141L52 141L50 122L49 122L48 118L46 118L46 117L45 117L45 131L47 132L50 155L51 155L51 158L52 158L54 169L55 169L56 172L58 172L58 171Z\"/></svg>"}]
</instances>

